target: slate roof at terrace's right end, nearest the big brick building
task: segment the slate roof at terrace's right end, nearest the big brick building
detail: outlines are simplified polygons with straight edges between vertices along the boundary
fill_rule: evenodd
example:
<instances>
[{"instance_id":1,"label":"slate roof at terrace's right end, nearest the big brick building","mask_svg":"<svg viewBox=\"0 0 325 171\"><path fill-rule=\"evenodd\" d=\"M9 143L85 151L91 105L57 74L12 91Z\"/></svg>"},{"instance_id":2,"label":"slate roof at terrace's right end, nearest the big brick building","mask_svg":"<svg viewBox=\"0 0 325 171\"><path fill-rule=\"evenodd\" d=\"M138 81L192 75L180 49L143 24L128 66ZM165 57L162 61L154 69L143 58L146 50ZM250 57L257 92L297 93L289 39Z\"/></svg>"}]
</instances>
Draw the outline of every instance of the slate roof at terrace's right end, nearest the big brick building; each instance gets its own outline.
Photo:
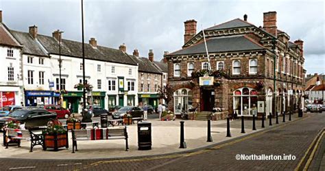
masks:
<instances>
[{"instance_id":1,"label":"slate roof at terrace's right end, nearest the big brick building","mask_svg":"<svg viewBox=\"0 0 325 171\"><path fill-rule=\"evenodd\" d=\"M158 67L156 67L156 65L154 65L154 63L152 63L148 58L136 56L131 56L131 58L139 64L139 71L162 74Z\"/></svg>"}]
</instances>

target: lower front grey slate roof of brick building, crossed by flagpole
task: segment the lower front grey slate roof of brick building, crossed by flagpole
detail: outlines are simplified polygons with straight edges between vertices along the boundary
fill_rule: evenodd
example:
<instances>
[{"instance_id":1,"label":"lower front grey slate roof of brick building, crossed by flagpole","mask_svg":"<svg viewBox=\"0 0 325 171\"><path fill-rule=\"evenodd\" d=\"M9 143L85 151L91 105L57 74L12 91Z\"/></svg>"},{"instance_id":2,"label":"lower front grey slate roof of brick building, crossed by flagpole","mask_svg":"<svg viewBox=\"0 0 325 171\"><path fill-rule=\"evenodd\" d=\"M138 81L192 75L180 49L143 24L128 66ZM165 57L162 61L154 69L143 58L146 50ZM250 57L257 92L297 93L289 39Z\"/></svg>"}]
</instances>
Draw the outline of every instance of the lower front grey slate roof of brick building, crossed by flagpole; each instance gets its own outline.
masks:
<instances>
[{"instance_id":1,"label":"lower front grey slate roof of brick building, crossed by flagpole","mask_svg":"<svg viewBox=\"0 0 325 171\"><path fill-rule=\"evenodd\" d=\"M239 36L224 36L217 38L209 38L206 41L208 46L208 52L238 52L246 50L259 50L265 49L262 45L259 45L251 38L245 35ZM206 48L204 42L197 43L190 47L180 49L179 51L173 52L169 55L183 55L183 54L205 54Z\"/></svg>"}]
</instances>

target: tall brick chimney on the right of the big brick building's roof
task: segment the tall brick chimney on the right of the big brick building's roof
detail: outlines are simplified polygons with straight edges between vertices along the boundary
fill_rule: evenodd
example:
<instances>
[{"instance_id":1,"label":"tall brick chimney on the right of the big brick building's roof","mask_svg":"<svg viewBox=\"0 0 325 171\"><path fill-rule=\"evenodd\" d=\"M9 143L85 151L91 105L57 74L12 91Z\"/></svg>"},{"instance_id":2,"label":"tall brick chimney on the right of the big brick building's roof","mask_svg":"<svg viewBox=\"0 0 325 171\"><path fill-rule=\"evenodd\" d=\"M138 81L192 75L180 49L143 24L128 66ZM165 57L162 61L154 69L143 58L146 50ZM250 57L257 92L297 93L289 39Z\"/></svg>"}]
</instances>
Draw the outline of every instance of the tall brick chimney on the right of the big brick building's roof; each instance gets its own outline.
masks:
<instances>
[{"instance_id":1,"label":"tall brick chimney on the right of the big brick building's roof","mask_svg":"<svg viewBox=\"0 0 325 171\"><path fill-rule=\"evenodd\" d=\"M264 12L263 13L263 28L266 32L278 36L278 27L276 26L276 12Z\"/></svg>"}]
</instances>

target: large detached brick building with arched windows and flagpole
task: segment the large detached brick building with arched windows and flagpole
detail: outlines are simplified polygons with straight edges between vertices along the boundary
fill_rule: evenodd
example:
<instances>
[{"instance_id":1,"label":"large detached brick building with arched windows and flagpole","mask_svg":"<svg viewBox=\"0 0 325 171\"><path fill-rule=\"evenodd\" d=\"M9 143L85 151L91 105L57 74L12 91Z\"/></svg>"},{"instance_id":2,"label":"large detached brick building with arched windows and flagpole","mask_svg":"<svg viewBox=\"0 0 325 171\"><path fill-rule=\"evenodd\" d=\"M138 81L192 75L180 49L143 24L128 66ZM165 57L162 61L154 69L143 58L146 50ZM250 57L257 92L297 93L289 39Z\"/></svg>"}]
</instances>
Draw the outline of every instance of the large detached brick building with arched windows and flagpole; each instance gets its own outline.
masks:
<instances>
[{"instance_id":1,"label":"large detached brick building with arched windows and flagpole","mask_svg":"<svg viewBox=\"0 0 325 171\"><path fill-rule=\"evenodd\" d=\"M258 115L302 106L306 72L303 41L292 43L286 32L278 30L276 12L263 14L263 27L249 23L244 15L243 20L234 19L205 29L210 60L204 34L196 32L196 23L184 22L182 49L165 55L168 81L173 89L169 109L178 114L198 106L201 112L218 108L222 112L217 115L236 111L249 116L258 104L264 104L258 108L263 109ZM199 84L206 71L209 80Z\"/></svg>"}]
</instances>

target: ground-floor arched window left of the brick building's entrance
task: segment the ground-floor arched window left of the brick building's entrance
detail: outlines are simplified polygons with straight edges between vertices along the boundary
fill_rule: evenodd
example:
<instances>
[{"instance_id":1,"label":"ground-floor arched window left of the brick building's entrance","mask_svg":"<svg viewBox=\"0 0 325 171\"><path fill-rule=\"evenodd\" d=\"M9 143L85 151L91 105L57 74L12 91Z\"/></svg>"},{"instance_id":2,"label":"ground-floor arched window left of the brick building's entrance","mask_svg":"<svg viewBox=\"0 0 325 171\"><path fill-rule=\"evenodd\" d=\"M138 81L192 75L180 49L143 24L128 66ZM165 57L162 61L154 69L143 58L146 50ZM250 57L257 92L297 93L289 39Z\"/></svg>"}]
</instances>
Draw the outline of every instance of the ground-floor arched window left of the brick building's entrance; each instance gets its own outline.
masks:
<instances>
[{"instance_id":1,"label":"ground-floor arched window left of the brick building's entrance","mask_svg":"<svg viewBox=\"0 0 325 171\"><path fill-rule=\"evenodd\" d=\"M175 113L180 114L192 106L192 91L190 89L178 89L173 93Z\"/></svg>"}]
</instances>

